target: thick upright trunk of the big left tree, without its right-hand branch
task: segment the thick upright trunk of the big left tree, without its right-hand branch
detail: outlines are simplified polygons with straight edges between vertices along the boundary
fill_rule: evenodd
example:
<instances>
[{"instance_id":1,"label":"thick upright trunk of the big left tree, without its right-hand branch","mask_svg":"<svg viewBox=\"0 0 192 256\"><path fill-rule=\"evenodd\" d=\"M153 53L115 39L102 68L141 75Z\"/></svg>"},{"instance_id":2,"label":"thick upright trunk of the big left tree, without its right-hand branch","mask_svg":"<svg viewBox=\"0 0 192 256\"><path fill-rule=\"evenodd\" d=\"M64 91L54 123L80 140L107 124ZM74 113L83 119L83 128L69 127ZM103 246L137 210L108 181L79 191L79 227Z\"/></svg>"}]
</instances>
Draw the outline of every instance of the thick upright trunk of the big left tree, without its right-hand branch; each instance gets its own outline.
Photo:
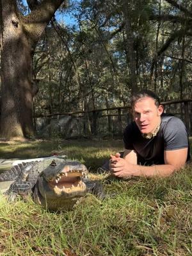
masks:
<instances>
[{"instance_id":1,"label":"thick upright trunk of the big left tree, without its right-hand branch","mask_svg":"<svg viewBox=\"0 0 192 256\"><path fill-rule=\"evenodd\" d=\"M3 1L1 137L33 136L31 45L13 6Z\"/></svg>"}]
</instances>

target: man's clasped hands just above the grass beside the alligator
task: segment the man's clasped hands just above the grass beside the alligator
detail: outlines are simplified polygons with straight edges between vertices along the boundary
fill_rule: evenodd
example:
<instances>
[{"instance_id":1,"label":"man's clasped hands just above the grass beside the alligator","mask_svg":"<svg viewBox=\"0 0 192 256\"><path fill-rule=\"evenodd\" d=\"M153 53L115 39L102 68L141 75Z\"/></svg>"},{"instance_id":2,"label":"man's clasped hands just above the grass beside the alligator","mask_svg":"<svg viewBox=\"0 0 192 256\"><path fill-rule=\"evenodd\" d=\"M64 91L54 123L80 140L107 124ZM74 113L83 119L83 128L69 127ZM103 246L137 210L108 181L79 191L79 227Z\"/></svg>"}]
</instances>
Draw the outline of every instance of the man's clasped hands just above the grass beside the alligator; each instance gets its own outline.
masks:
<instances>
[{"instance_id":1,"label":"man's clasped hands just above the grass beside the alligator","mask_svg":"<svg viewBox=\"0 0 192 256\"><path fill-rule=\"evenodd\" d=\"M116 153L115 156L111 155L109 160L109 169L111 174L115 177L125 178L132 175L132 164L128 163L124 158L120 157L119 153Z\"/></svg>"}]
</instances>

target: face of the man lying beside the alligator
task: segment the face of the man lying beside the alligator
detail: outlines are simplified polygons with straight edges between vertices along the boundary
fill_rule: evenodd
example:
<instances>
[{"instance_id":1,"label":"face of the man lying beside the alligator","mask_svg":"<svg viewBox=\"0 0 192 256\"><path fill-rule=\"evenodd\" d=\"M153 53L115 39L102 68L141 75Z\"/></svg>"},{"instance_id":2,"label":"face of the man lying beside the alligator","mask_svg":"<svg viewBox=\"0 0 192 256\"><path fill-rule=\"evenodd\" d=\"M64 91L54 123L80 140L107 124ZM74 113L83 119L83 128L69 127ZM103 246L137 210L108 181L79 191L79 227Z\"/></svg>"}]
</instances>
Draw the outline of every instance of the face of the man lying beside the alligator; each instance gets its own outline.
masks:
<instances>
[{"instance_id":1,"label":"face of the man lying beside the alligator","mask_svg":"<svg viewBox=\"0 0 192 256\"><path fill-rule=\"evenodd\" d=\"M153 132L161 120L163 106L156 106L154 99L145 97L138 100L132 108L132 115L141 133Z\"/></svg>"}]
</instances>

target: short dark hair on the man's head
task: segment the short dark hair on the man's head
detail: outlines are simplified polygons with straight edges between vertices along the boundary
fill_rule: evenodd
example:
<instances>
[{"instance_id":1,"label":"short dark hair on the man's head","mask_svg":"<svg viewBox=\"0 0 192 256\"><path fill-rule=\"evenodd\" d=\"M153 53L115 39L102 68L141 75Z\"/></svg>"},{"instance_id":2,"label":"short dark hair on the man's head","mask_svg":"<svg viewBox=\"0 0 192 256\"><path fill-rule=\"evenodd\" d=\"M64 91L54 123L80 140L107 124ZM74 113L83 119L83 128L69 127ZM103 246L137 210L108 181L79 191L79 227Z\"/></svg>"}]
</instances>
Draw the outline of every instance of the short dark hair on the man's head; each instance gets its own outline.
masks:
<instances>
[{"instance_id":1,"label":"short dark hair on the man's head","mask_svg":"<svg viewBox=\"0 0 192 256\"><path fill-rule=\"evenodd\" d=\"M150 97L150 98L154 99L156 106L159 107L159 105L160 105L159 97L156 95L156 93L154 93L150 90L142 90L140 92L134 93L131 97L131 106L133 107L134 104L136 104L136 102L138 102L140 99L143 99L145 97Z\"/></svg>"}]
</instances>

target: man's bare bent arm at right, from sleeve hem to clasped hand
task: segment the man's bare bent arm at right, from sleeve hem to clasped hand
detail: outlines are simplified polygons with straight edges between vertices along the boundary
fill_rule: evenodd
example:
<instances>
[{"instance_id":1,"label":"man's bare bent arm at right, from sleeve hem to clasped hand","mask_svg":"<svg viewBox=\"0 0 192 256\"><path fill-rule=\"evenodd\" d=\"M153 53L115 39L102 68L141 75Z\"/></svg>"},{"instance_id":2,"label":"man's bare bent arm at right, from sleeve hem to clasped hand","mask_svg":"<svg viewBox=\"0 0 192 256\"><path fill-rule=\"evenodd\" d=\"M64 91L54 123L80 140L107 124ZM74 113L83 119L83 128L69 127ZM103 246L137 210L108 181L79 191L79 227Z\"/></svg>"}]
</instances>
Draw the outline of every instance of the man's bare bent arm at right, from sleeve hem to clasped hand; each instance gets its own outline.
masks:
<instances>
[{"instance_id":1,"label":"man's bare bent arm at right, from sleeve hem to clasped hand","mask_svg":"<svg viewBox=\"0 0 192 256\"><path fill-rule=\"evenodd\" d=\"M165 164L156 164L153 166L141 166L129 162L133 153L125 155L125 159L120 158L116 163L111 163L110 168L116 177L144 176L144 177L166 177L171 175L175 170L183 167L188 156L188 148L164 151ZM131 160L132 161L132 160Z\"/></svg>"}]
</instances>

